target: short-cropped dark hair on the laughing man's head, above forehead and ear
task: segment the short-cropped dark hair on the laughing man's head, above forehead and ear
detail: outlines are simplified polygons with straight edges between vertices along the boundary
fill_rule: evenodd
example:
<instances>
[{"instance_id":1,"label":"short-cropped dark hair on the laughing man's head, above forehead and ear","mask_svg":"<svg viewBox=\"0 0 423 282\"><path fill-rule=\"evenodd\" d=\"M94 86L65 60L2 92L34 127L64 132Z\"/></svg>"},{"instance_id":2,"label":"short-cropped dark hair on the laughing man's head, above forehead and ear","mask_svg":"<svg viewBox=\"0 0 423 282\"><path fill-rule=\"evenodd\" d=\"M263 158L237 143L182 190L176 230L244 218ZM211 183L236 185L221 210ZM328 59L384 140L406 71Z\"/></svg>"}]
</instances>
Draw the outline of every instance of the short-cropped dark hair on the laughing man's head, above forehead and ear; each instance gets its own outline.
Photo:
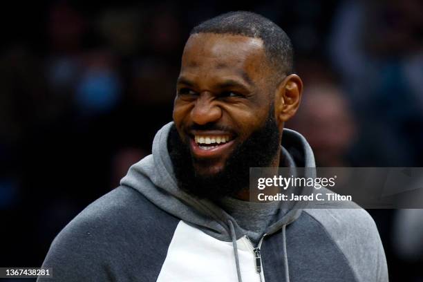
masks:
<instances>
[{"instance_id":1,"label":"short-cropped dark hair on the laughing man's head, above forehead and ear","mask_svg":"<svg viewBox=\"0 0 423 282\"><path fill-rule=\"evenodd\" d=\"M270 19L254 12L227 12L208 19L193 28L190 35L216 33L244 35L263 40L265 55L276 70L276 76L290 75L294 70L294 50L288 35Z\"/></svg>"}]
</instances>

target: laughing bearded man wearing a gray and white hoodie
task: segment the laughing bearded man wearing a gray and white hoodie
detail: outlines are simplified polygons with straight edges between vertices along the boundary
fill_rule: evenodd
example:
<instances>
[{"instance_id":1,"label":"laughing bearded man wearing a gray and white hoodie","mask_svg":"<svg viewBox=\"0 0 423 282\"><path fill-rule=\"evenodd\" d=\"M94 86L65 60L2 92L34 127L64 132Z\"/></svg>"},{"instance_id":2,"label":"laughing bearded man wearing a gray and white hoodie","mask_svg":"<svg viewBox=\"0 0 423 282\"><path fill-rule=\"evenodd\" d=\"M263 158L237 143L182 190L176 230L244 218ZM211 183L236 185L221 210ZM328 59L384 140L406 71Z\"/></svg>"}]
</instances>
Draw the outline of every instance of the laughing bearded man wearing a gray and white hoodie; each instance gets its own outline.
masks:
<instances>
[{"instance_id":1,"label":"laughing bearded man wearing a gray and white hoodie","mask_svg":"<svg viewBox=\"0 0 423 282\"><path fill-rule=\"evenodd\" d=\"M314 167L306 140L283 129L302 88L290 39L268 19L201 23L153 153L64 228L43 266L57 281L387 281L364 210L248 201L250 167Z\"/></svg>"}]
</instances>

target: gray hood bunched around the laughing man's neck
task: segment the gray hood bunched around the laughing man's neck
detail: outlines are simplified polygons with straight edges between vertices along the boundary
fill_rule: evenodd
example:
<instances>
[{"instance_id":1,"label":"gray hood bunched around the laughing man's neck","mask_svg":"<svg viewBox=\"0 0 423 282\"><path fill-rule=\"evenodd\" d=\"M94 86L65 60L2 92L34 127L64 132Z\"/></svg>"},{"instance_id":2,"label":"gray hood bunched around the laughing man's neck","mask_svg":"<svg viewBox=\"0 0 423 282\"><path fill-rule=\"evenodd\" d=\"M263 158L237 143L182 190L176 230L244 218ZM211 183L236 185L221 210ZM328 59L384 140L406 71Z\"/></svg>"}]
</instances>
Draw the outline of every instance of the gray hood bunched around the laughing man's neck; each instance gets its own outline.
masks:
<instances>
[{"instance_id":1,"label":"gray hood bunched around the laughing man's neck","mask_svg":"<svg viewBox=\"0 0 423 282\"><path fill-rule=\"evenodd\" d=\"M173 122L164 125L153 140L153 153L133 164L120 184L132 187L164 211L203 230L220 241L232 241L243 236L241 228L232 216L207 199L198 199L178 188L167 150L167 136ZM288 152L297 167L314 167L314 156L306 139L296 131L283 129L283 151ZM288 225L301 214L301 207L292 209L267 228L272 234ZM233 229L232 229L233 227Z\"/></svg>"}]
</instances>

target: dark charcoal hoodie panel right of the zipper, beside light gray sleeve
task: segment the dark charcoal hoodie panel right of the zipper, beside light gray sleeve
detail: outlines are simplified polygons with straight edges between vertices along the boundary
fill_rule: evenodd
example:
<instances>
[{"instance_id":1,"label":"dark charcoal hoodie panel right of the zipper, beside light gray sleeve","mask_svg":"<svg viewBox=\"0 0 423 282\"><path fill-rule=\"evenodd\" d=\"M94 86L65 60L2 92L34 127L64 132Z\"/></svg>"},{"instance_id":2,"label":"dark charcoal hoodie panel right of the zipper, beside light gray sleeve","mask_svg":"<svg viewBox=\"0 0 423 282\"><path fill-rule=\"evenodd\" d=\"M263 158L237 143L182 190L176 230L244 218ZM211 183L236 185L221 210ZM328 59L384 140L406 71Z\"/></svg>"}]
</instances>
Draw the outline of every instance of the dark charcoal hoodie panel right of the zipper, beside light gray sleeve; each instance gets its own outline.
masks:
<instances>
[{"instance_id":1,"label":"dark charcoal hoodie panel right of the zipper, beside light gray sleeve","mask_svg":"<svg viewBox=\"0 0 423 282\"><path fill-rule=\"evenodd\" d=\"M344 254L326 229L306 213L286 227L290 282L356 282ZM285 281L283 236L265 238L261 247L265 281Z\"/></svg>"}]
</instances>

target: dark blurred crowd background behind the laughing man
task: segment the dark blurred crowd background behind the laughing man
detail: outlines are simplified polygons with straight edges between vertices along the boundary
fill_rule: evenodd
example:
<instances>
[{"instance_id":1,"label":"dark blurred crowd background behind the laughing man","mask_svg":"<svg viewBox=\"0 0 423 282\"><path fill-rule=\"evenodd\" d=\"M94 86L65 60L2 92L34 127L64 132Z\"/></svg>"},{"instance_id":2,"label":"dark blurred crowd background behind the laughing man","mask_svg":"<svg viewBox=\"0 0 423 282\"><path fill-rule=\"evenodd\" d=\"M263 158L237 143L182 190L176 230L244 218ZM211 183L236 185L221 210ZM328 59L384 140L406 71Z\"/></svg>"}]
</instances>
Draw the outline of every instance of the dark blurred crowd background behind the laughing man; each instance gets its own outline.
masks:
<instances>
[{"instance_id":1,"label":"dark blurred crowd background behind the laughing man","mask_svg":"<svg viewBox=\"0 0 423 282\"><path fill-rule=\"evenodd\" d=\"M292 39L305 91L287 125L319 166L423 167L422 1L238 2L2 6L0 266L39 267L64 225L151 152L189 30L230 10L259 12ZM423 281L423 215L368 212L391 281Z\"/></svg>"}]
</instances>

